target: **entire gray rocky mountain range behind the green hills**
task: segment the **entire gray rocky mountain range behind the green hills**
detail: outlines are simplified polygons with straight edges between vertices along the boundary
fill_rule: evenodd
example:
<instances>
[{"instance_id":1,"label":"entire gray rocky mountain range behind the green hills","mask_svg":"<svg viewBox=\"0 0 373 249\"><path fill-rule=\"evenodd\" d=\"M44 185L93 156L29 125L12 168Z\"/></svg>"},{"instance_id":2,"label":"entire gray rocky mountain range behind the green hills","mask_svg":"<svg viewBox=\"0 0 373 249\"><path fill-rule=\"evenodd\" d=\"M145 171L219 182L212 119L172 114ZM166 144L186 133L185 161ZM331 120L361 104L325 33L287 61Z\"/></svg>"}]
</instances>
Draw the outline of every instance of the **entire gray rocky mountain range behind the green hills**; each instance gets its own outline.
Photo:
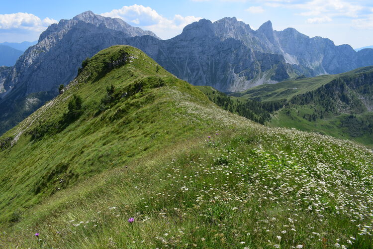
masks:
<instances>
[{"instance_id":1,"label":"entire gray rocky mountain range behind the green hills","mask_svg":"<svg viewBox=\"0 0 373 249\"><path fill-rule=\"evenodd\" d=\"M18 59L0 94L0 132L55 97L59 85L74 79L83 60L116 44L140 48L177 77L223 92L373 65L373 49L356 52L293 28L276 31L270 21L253 30L234 17L201 19L180 35L161 40L121 19L87 11L52 24Z\"/></svg>"}]
</instances>

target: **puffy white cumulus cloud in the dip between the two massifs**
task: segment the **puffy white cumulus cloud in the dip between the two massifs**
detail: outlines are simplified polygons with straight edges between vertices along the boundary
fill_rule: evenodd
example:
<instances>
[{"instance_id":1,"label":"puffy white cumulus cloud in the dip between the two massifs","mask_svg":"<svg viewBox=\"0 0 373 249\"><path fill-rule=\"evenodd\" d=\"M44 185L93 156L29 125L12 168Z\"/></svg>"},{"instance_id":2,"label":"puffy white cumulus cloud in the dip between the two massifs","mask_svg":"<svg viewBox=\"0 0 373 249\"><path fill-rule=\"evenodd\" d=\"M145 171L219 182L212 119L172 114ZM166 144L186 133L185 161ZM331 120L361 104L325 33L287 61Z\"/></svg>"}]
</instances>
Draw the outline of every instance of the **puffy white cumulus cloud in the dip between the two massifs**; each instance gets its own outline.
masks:
<instances>
[{"instance_id":1,"label":"puffy white cumulus cloud in the dip between the two massifs","mask_svg":"<svg viewBox=\"0 0 373 249\"><path fill-rule=\"evenodd\" d=\"M187 24L201 19L201 17L182 16L179 14L174 15L172 18L166 18L151 7L138 4L123 6L120 9L113 9L101 15L121 18L132 25L151 30L163 39L172 38L180 34Z\"/></svg>"}]
</instances>

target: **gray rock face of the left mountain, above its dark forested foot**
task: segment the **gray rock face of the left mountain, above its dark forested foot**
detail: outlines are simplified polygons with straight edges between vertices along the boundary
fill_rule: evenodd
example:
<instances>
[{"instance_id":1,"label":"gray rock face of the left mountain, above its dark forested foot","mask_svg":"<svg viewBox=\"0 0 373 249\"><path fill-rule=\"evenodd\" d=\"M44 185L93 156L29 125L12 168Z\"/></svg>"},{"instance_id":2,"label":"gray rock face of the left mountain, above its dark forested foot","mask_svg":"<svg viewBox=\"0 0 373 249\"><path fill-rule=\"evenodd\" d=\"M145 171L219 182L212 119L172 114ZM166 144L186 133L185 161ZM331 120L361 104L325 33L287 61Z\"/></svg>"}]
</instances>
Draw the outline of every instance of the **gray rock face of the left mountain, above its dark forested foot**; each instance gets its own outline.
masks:
<instances>
[{"instance_id":1,"label":"gray rock face of the left mountain, above its dark forested foot","mask_svg":"<svg viewBox=\"0 0 373 249\"><path fill-rule=\"evenodd\" d=\"M5 81L6 91L25 87L26 94L55 91L57 85L67 84L76 76L82 61L106 47L122 44L124 38L151 35L132 27L118 18L103 17L87 11L71 20L52 24L28 48L15 64Z\"/></svg>"}]
</instances>

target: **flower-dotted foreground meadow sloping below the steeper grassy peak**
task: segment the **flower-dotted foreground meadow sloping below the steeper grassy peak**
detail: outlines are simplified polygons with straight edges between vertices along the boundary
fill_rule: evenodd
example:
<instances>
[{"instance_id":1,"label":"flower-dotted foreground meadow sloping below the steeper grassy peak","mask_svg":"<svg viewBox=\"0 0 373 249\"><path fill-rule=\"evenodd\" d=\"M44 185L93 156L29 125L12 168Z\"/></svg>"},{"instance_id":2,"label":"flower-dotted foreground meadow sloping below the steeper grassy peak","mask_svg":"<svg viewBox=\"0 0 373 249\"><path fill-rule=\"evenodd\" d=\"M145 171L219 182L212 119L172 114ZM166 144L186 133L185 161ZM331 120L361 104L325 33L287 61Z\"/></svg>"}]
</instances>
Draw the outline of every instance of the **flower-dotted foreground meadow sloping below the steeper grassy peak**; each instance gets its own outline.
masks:
<instances>
[{"instance_id":1,"label":"flower-dotted foreground meadow sloping below the steeper grassy peak","mask_svg":"<svg viewBox=\"0 0 373 249\"><path fill-rule=\"evenodd\" d=\"M236 122L57 193L0 238L32 248L372 246L372 151Z\"/></svg>"}]
</instances>

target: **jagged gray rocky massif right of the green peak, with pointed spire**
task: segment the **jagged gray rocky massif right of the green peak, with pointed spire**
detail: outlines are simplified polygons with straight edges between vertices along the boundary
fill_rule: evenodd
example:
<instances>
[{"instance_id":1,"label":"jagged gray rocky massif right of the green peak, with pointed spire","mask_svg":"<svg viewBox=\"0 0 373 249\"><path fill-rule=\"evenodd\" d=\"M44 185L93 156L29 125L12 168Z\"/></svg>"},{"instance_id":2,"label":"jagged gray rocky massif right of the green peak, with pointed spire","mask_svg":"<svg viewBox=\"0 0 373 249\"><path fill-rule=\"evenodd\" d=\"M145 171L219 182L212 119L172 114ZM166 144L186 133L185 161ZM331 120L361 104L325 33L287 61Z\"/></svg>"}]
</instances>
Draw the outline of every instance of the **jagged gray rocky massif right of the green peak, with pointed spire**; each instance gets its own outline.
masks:
<instances>
[{"instance_id":1,"label":"jagged gray rocky massif right of the green peak, with pointed spire","mask_svg":"<svg viewBox=\"0 0 373 249\"><path fill-rule=\"evenodd\" d=\"M127 40L181 79L235 92L297 75L338 74L373 65L373 49L310 38L294 28L276 31L271 21L258 30L236 18L199 20L165 41L149 37ZM134 41L135 40L135 41Z\"/></svg>"}]
</instances>

